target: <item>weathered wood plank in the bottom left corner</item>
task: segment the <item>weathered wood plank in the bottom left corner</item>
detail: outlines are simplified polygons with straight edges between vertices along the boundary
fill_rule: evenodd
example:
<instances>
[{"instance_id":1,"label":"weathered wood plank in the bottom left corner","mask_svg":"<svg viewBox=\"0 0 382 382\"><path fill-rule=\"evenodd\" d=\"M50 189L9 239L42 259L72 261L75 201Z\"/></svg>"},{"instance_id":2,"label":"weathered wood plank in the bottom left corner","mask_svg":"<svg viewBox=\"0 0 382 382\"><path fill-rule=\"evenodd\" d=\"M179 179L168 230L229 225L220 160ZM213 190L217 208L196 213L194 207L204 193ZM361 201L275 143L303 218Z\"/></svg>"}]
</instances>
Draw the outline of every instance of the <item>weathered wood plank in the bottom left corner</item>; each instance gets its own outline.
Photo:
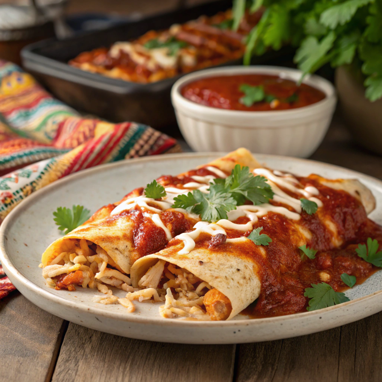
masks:
<instances>
[{"instance_id":1,"label":"weathered wood plank in the bottom left corner","mask_svg":"<svg viewBox=\"0 0 382 382\"><path fill-rule=\"evenodd\" d=\"M50 381L65 331L55 317L14 292L0 301L1 381Z\"/></svg>"}]
</instances>

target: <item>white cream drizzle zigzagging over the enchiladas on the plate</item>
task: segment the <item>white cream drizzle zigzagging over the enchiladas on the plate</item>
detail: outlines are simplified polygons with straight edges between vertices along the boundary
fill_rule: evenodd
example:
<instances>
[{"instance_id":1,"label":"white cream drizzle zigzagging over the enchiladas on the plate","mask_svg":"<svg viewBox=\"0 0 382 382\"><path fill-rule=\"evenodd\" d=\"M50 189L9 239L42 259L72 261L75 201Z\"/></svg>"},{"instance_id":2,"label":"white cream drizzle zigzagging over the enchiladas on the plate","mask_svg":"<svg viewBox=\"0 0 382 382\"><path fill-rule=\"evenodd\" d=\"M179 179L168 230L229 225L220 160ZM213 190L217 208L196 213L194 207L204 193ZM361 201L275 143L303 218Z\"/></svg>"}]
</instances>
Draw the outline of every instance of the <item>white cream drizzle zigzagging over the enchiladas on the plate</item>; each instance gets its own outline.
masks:
<instances>
[{"instance_id":1,"label":"white cream drizzle zigzagging over the enchiladas on the plate","mask_svg":"<svg viewBox=\"0 0 382 382\"><path fill-rule=\"evenodd\" d=\"M224 174L224 172L222 172L216 167L208 166L206 167L206 169L210 172L213 172L214 174L216 174L217 176L221 178L227 177L227 175ZM270 203L263 203L260 205L237 206L236 210L232 210L227 213L228 219L221 219L217 223L198 222L194 225L193 231L187 232L187 233L181 233L180 235L176 236L177 239L180 239L184 242L183 249L178 252L180 255L188 254L190 251L192 251L195 248L195 240L199 237L199 235L202 232L209 233L211 236L215 236L218 233L222 233L226 235L226 231L224 230L224 228L235 229L242 232L246 232L253 228L253 223L256 223L259 217L265 216L269 212L278 213L280 215L285 216L287 219L290 219L290 220L295 220L295 221L299 220L301 218L300 214L302 211L300 199L297 199L288 195L286 192L282 191L279 187L282 187L291 192L303 195L308 200L312 200L316 202L318 207L322 207L323 205L321 200L313 196L313 195L316 196L319 194L319 191L315 187L308 186L305 189L296 187L299 182L291 174L282 173L281 171L278 171L278 170L275 170L272 172L266 168L256 168L253 170L253 173L254 175L262 175L267 178L268 184L271 186L272 191L274 192L273 200L292 207L296 212L289 211L285 207L274 206ZM201 192L204 192L204 193L208 193L209 185L210 183L213 183L213 179L215 179L215 177L212 175L207 175L207 176L193 175L191 176L191 178L194 179L196 182L188 182L183 185L182 189L178 189L176 187L166 187L165 188L166 196L162 198L162 201L148 198L148 197L145 197L144 195L132 197L132 198L126 199L117 207L115 207L114 210L111 212L111 215L116 215L122 211L132 209L137 205L139 207L143 207L151 212L154 212L154 214L152 215L145 213L145 216L151 217L153 223L165 231L167 240L170 241L172 239L171 232L162 222L159 214L163 210L170 209L171 206L174 204L174 198L178 195L186 194L189 191L192 191L195 189L200 190ZM147 204L148 202L157 206L158 208L149 206ZM180 212L193 219L199 219L199 215L189 213L182 208L174 208L174 211ZM245 224L233 223L235 220L237 220L238 218L242 216L247 217L249 219L249 222ZM227 239L226 242L237 243L237 242L242 242L245 240L247 240L247 238L239 237L239 238Z\"/></svg>"}]
</instances>

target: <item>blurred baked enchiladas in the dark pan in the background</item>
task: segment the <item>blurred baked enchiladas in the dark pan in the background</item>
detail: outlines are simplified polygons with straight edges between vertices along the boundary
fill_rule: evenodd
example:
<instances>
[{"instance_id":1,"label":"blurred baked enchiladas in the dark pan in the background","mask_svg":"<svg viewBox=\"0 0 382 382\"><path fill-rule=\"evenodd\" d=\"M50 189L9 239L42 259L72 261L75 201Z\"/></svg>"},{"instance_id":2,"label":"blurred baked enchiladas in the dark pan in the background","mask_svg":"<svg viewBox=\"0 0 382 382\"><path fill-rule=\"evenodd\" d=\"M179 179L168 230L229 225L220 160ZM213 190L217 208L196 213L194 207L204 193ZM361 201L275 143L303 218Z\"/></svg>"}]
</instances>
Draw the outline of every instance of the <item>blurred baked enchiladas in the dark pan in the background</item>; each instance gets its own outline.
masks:
<instances>
[{"instance_id":1,"label":"blurred baked enchiladas in the dark pan in the background","mask_svg":"<svg viewBox=\"0 0 382 382\"><path fill-rule=\"evenodd\" d=\"M83 52L69 61L82 70L125 81L151 83L240 59L244 39L263 11L246 12L232 31L232 11L219 12L165 31L149 31L134 41Z\"/></svg>"}]
</instances>

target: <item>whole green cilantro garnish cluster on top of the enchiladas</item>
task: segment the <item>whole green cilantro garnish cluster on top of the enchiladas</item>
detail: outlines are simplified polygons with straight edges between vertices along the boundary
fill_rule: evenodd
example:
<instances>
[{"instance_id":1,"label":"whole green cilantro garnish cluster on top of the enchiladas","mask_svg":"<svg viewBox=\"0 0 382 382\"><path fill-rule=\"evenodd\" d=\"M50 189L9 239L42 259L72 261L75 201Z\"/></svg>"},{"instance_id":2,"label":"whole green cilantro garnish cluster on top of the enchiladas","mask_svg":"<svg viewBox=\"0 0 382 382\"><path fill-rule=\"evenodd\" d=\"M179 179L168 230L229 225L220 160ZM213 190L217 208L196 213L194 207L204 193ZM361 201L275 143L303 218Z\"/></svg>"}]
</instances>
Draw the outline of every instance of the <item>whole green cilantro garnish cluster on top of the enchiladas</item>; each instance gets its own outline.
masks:
<instances>
[{"instance_id":1,"label":"whole green cilantro garnish cluster on top of the enchiladas","mask_svg":"<svg viewBox=\"0 0 382 382\"><path fill-rule=\"evenodd\" d=\"M248 167L237 164L228 178L214 179L209 193L194 190L176 196L173 208L186 209L207 222L227 219L227 212L243 205L246 200L256 205L272 199L274 193L266 180L263 176L253 176Z\"/></svg>"}]
</instances>

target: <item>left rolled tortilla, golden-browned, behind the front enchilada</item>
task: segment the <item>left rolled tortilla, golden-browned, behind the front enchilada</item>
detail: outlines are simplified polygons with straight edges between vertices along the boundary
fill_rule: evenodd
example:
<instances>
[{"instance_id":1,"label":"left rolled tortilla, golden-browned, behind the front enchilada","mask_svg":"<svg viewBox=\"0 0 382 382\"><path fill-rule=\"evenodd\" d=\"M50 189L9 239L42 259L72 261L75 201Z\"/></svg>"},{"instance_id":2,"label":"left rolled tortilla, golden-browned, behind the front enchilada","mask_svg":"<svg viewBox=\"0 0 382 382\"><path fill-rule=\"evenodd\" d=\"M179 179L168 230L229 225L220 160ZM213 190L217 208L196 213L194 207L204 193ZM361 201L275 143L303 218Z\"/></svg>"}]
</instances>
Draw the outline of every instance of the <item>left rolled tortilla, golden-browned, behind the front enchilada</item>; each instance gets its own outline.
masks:
<instances>
[{"instance_id":1,"label":"left rolled tortilla, golden-browned, behind the front enchilada","mask_svg":"<svg viewBox=\"0 0 382 382\"><path fill-rule=\"evenodd\" d=\"M199 166L198 168L206 168L209 173L212 174L212 176L222 177L223 175L229 175L236 164L248 166L251 171L255 167L259 166L259 163L252 157L251 153L248 150L241 148L226 155L223 158L216 159L206 165ZM190 172L182 173L178 175L178 178L185 179L189 176L189 173ZM166 181L160 181L160 183L162 183L165 187L172 186L171 184L167 184ZM196 180L193 183L198 184L199 182ZM137 225L142 223L141 221L139 223L137 223L137 220L134 221L132 216L128 214L127 211L121 211L121 213L117 215L110 214L115 207L126 201L128 198L141 195L142 191L143 189L137 189L133 191L133 193L128 194L118 203L109 204L102 207L87 222L75 228L64 237L61 237L53 242L42 255L41 262L43 266L49 265L52 260L64 252L69 254L73 253L75 248L79 247L79 240L85 239L101 247L114 261L120 271L129 274L131 265L139 257L146 255L144 251L137 250L134 238L134 231L137 228ZM166 199L164 198L164 200ZM161 247L163 248L167 244L169 240L169 232L164 230L163 227L165 226L168 230L171 230L171 223L169 223L168 226L166 226L166 224L160 225L161 217L163 216L162 214L166 210L169 210L168 208L166 209L163 207L166 205L166 203L161 204L161 202L156 202L155 200L153 200L153 203L156 205L156 207L158 207L159 210L162 211L153 212L152 210L145 207L140 208L144 215L142 219L147 226L147 228L145 228L145 232L143 232L143 234L147 233L147 238L145 237L144 240L150 241L150 237L154 236L155 234L155 238L150 242L151 245L148 247L148 253L157 252ZM167 206L171 206L171 204L172 203L167 203ZM179 211L172 211L173 214L179 214ZM184 215L185 220L187 220L190 225L187 225L183 221L184 228L178 227L176 234L189 229L190 226L192 227L193 224L199 220L197 216L193 214L187 214L185 210L183 210L181 213ZM157 224L155 224L152 220L154 214L159 215L160 217L159 222L158 217L156 217ZM177 217L178 220L183 219L179 217L179 215L177 215ZM158 224L160 225L159 227ZM149 229L151 229L151 234L149 233ZM160 240L158 240L158 238ZM157 243L155 240L157 240ZM156 244L158 245L156 246Z\"/></svg>"}]
</instances>

